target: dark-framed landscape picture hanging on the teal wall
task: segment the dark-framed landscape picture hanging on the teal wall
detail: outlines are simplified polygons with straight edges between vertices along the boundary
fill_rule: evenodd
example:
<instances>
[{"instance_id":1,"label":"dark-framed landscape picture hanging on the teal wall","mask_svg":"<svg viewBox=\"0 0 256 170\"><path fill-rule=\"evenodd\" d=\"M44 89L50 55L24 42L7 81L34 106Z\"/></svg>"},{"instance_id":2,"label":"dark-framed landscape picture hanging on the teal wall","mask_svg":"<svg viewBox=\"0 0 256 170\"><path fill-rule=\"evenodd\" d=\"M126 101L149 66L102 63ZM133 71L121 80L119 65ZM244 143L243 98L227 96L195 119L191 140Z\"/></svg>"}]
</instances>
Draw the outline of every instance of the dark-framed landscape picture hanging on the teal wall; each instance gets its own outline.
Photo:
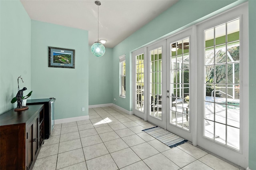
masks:
<instances>
[{"instance_id":1,"label":"dark-framed landscape picture hanging on the teal wall","mask_svg":"<svg viewBox=\"0 0 256 170\"><path fill-rule=\"evenodd\" d=\"M75 68L75 50L48 47L49 64L48 67Z\"/></svg>"}]
</instances>

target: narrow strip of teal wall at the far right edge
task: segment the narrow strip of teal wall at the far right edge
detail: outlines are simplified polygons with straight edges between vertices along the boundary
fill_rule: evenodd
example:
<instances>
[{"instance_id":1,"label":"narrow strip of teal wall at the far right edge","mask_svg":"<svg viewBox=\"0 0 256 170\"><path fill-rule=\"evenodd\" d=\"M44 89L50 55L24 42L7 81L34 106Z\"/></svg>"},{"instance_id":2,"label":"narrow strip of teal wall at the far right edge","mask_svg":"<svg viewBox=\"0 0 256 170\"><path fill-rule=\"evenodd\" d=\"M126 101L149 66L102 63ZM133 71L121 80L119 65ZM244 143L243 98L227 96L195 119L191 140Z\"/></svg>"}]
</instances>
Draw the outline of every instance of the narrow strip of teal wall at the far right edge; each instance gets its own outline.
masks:
<instances>
[{"instance_id":1,"label":"narrow strip of teal wall at the far right edge","mask_svg":"<svg viewBox=\"0 0 256 170\"><path fill-rule=\"evenodd\" d=\"M256 1L249 0L249 168L256 169Z\"/></svg>"}]
</instances>

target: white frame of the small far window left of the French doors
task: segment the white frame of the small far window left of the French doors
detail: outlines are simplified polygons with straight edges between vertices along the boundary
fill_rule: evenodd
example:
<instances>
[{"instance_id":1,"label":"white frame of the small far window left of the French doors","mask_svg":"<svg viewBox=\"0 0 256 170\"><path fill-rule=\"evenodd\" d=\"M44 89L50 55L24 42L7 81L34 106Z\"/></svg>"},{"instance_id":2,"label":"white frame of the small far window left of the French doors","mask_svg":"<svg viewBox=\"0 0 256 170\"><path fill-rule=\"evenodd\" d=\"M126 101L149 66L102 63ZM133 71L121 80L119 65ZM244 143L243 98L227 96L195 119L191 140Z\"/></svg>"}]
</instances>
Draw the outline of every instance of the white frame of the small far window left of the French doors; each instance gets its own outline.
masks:
<instances>
[{"instance_id":1,"label":"white frame of the small far window left of the French doors","mask_svg":"<svg viewBox=\"0 0 256 170\"><path fill-rule=\"evenodd\" d=\"M124 78L126 78L126 68L125 68L125 65L124 65L124 63L126 63L126 60L125 60L125 54L124 55L121 55L120 57L119 57L119 97L123 97L123 98L125 98L125 90L124 90L124 93L123 93L123 87L124 87L124 89L125 89L125 81L123 82L122 81L122 79ZM123 67L124 67L124 69L123 69ZM124 70L124 71L123 71ZM124 83L124 84L123 84Z\"/></svg>"}]
</instances>

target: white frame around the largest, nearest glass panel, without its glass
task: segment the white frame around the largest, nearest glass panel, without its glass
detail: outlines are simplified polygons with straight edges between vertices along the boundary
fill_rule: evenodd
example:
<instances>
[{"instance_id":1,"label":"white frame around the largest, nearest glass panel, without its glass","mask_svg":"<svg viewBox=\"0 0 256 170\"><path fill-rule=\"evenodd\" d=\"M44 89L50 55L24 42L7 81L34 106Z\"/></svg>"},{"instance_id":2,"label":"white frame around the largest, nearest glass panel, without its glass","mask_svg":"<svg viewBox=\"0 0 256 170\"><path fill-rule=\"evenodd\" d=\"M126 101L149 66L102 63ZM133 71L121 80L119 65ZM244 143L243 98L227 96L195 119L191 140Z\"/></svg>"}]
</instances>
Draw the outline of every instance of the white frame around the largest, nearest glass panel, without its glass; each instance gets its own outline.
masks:
<instances>
[{"instance_id":1,"label":"white frame around the largest, nearest glass panel, without its glass","mask_svg":"<svg viewBox=\"0 0 256 170\"><path fill-rule=\"evenodd\" d=\"M224 144L220 144L214 140L204 137L204 93L200 94L200 91L204 89L204 33L203 31L217 26L219 24L228 22L230 20L240 18L240 150L230 148ZM244 84L249 83L249 55L248 55L248 2L243 3L235 8L226 10L216 16L213 16L203 22L196 24L196 36L197 36L197 84L196 84L196 113L197 113L197 141L196 144L213 154L227 159L231 162L235 162L239 166L248 167L248 103L249 103L249 91L248 87ZM193 142L194 144L194 142Z\"/></svg>"}]
</instances>

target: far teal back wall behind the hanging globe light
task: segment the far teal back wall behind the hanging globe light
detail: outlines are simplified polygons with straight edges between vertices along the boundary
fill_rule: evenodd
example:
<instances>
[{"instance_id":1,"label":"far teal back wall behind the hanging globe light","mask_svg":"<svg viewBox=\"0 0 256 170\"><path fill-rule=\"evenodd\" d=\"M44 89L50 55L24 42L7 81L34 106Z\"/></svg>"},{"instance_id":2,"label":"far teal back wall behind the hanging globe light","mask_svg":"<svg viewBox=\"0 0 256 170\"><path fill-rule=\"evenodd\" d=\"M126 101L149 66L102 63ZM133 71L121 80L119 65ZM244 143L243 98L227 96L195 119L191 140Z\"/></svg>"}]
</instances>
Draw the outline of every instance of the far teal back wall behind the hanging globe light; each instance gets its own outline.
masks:
<instances>
[{"instance_id":1,"label":"far teal back wall behind the hanging globe light","mask_svg":"<svg viewBox=\"0 0 256 170\"><path fill-rule=\"evenodd\" d=\"M112 48L94 56L89 45L89 105L112 103Z\"/></svg>"}]
</instances>

